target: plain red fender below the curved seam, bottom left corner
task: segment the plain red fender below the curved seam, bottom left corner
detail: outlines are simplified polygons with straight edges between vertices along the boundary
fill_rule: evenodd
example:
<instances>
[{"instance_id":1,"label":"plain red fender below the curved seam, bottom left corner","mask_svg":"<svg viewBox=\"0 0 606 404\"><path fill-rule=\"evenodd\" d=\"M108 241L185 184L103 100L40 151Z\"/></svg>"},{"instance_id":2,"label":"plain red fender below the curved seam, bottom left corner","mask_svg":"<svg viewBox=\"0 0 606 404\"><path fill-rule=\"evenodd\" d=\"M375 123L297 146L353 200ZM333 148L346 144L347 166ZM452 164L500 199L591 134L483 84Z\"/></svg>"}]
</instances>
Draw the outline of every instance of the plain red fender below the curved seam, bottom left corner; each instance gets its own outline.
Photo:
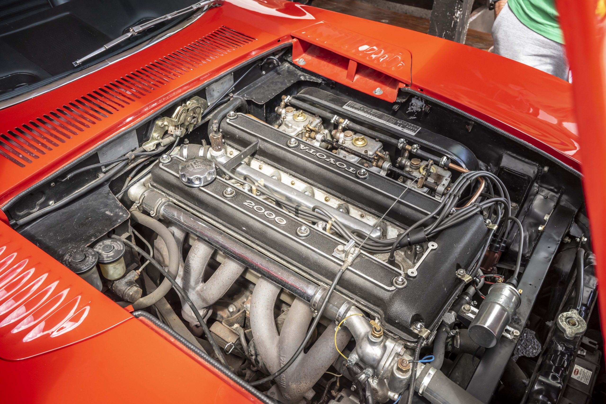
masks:
<instances>
[{"instance_id":1,"label":"plain red fender below the curved seam, bottom left corner","mask_svg":"<svg viewBox=\"0 0 606 404\"><path fill-rule=\"evenodd\" d=\"M259 403L147 322L30 359L0 360L2 402Z\"/></svg>"}]
</instances>

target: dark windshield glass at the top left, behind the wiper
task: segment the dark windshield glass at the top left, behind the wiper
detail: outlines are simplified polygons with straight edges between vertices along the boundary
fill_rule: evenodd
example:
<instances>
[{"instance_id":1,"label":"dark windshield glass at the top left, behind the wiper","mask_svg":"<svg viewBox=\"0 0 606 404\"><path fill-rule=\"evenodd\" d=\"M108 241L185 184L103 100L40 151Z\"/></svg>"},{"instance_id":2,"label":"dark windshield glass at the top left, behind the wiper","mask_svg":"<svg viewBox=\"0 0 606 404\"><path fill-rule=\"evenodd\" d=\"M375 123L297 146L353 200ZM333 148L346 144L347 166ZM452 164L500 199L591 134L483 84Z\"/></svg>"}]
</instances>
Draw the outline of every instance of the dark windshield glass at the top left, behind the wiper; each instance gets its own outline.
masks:
<instances>
[{"instance_id":1,"label":"dark windshield glass at the top left, behind the wiper","mask_svg":"<svg viewBox=\"0 0 606 404\"><path fill-rule=\"evenodd\" d=\"M40 5L44 3L43 5ZM48 84L174 27L184 13L73 64L130 27L188 7L192 0L22 0L0 5L0 101Z\"/></svg>"}]
</instances>

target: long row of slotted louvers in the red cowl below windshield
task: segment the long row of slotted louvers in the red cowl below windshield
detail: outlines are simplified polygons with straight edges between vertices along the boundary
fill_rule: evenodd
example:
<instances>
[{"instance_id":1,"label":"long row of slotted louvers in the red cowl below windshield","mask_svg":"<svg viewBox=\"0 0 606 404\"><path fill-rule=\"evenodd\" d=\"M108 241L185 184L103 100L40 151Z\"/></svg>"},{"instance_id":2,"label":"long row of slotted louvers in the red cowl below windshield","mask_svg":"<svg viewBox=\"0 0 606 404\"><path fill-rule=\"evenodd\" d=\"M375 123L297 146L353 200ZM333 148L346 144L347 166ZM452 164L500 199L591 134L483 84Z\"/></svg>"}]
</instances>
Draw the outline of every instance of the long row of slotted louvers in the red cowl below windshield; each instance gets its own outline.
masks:
<instances>
[{"instance_id":1,"label":"long row of slotted louvers in the red cowl below windshield","mask_svg":"<svg viewBox=\"0 0 606 404\"><path fill-rule=\"evenodd\" d=\"M255 40L231 28L219 27L54 111L0 133L0 156L25 167L151 91Z\"/></svg>"}]
</instances>

